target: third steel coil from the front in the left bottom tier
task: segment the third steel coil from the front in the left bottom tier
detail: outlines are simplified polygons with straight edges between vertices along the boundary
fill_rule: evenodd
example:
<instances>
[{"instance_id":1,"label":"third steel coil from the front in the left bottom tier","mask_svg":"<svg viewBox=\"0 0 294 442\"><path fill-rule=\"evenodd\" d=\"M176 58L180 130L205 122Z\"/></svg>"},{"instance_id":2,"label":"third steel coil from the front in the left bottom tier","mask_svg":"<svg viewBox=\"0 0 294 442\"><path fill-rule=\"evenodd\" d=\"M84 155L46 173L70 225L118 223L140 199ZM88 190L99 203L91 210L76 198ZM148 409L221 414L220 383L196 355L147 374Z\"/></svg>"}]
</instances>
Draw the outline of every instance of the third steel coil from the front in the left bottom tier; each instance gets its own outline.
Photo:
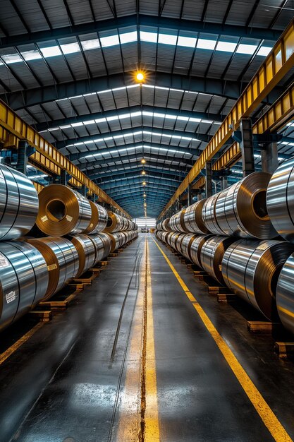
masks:
<instances>
[{"instance_id":1,"label":"third steel coil from the front in the left bottom tier","mask_svg":"<svg viewBox=\"0 0 294 442\"><path fill-rule=\"evenodd\" d=\"M89 236L85 234L68 236L67 239L69 239L73 243L75 249L77 249L78 251L79 266L76 277L79 277L80 275L85 273L88 268L94 265L96 258L96 249L94 246L94 242Z\"/></svg>"}]
</instances>

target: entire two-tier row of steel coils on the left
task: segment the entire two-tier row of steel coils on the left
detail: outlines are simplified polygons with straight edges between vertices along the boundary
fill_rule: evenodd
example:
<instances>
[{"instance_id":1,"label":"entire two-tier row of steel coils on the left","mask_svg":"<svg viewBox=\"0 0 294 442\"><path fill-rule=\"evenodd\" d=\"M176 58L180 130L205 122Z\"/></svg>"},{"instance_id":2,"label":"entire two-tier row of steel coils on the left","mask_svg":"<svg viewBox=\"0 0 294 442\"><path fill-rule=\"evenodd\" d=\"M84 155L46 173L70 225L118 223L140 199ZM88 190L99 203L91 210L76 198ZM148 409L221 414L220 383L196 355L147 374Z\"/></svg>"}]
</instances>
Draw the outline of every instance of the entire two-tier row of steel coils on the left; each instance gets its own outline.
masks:
<instances>
[{"instance_id":1,"label":"entire two-tier row of steel coils on the left","mask_svg":"<svg viewBox=\"0 0 294 442\"><path fill-rule=\"evenodd\" d=\"M47 237L25 238L35 224ZM77 191L53 184L38 196L0 165L0 330L135 237L133 221Z\"/></svg>"}]
</instances>

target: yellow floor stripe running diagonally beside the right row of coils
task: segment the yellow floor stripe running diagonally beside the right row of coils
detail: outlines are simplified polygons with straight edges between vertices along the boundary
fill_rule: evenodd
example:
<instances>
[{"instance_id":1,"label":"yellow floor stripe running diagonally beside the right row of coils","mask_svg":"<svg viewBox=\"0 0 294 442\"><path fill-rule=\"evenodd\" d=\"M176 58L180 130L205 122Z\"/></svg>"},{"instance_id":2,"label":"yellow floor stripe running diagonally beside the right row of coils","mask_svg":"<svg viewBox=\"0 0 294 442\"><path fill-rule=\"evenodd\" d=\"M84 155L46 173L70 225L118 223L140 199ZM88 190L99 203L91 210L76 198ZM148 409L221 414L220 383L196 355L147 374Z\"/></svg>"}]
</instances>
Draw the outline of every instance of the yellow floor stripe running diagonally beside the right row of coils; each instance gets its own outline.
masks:
<instances>
[{"instance_id":1,"label":"yellow floor stripe running diagonally beside the right row of coils","mask_svg":"<svg viewBox=\"0 0 294 442\"><path fill-rule=\"evenodd\" d=\"M163 254L164 258L166 259L166 262L169 264L171 270L173 271L173 274L176 276L178 282L180 283L180 286L183 288L183 291L192 302L192 305L194 306L195 310L202 319L202 322L204 323L205 327L212 335L212 338L214 338L216 345L219 347L219 350L221 350L223 357L225 357L226 362L228 362L228 365L233 371L233 374L235 374L235 377L238 379L246 395L252 402L252 405L255 407L255 410L257 411L262 421L264 422L264 425L267 426L267 429L271 433L271 436L273 436L274 440L277 442L293 442L290 436L288 435L286 429L284 429L281 422L278 420L274 412L271 410L267 402L262 397L261 393L259 393L259 390L257 390L257 388L255 387L255 384L251 381L250 377L243 369L243 366L241 366L240 362L238 362L238 359L235 357L235 355L228 347L226 342L223 340L223 338L221 338L221 335L214 327L212 321L210 321L209 317L204 312L200 304L198 304L197 299L195 299L193 294L188 289L187 285L185 285L185 282L183 282L182 278L180 277L176 269L173 267L173 264L171 263L171 261L169 261L169 258L166 256L166 254L161 249L159 244L157 244L157 241L154 241L154 243L157 245L157 247Z\"/></svg>"}]
</instances>

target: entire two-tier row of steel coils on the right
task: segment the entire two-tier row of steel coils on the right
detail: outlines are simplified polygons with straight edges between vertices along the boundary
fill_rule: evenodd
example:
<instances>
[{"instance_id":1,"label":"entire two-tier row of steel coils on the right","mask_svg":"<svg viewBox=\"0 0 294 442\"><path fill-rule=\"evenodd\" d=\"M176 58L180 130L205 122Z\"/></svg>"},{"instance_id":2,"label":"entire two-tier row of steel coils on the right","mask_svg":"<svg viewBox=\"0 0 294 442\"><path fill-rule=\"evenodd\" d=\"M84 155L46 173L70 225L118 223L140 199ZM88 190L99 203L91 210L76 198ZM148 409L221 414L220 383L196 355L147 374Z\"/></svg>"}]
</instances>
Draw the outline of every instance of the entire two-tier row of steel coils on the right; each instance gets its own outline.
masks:
<instances>
[{"instance_id":1,"label":"entire two-tier row of steel coils on the right","mask_svg":"<svg viewBox=\"0 0 294 442\"><path fill-rule=\"evenodd\" d=\"M294 333L293 196L290 159L181 210L157 236Z\"/></svg>"}]
</instances>

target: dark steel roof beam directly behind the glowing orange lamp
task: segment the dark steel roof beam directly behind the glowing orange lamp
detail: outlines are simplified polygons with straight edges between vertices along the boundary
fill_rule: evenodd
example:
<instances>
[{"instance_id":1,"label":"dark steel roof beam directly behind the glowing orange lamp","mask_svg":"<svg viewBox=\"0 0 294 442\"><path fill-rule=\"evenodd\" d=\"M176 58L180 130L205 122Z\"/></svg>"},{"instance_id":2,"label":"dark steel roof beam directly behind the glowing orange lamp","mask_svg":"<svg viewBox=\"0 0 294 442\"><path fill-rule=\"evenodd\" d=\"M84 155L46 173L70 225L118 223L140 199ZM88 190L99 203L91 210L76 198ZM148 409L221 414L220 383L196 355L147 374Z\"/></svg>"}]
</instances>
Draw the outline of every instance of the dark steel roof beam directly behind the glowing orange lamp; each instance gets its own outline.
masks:
<instances>
[{"instance_id":1,"label":"dark steel roof beam directly behind the glowing orange lamp","mask_svg":"<svg viewBox=\"0 0 294 442\"><path fill-rule=\"evenodd\" d=\"M157 85L163 88L174 88L202 92L209 95L237 100L246 83L232 80L219 80L217 78L204 78L197 76L181 76L176 73L146 72L145 81L149 85ZM53 85L19 90L17 92L2 93L4 100L12 109L19 110L24 107L35 106L36 104L62 100L77 95L99 92L102 90L121 88L126 85L133 85L133 71L130 73L116 73L109 76L87 78L85 80L70 81L67 83L55 83ZM283 92L282 88L276 88L267 97L269 104L273 103Z\"/></svg>"}]
</instances>

